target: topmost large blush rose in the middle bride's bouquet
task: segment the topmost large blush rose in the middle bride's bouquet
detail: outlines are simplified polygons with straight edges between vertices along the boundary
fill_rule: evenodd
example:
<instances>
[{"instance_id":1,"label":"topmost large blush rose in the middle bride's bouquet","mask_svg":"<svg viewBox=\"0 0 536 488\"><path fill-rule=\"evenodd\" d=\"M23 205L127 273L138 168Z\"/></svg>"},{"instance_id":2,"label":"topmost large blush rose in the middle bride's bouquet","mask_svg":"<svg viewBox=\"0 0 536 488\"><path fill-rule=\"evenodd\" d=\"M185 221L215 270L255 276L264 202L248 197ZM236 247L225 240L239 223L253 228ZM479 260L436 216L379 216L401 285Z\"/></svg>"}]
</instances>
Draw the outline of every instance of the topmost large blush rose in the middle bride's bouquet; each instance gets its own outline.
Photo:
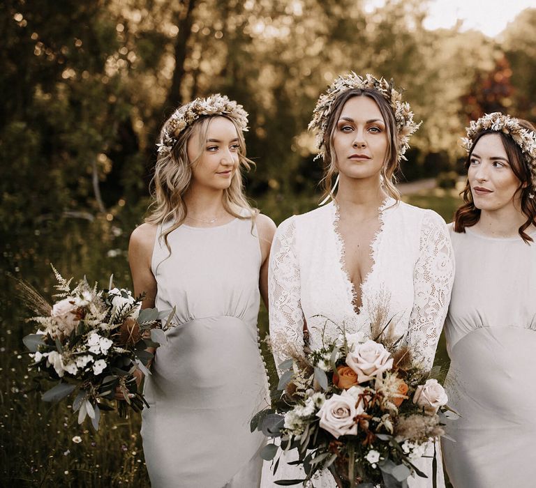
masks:
<instances>
[{"instance_id":1,"label":"topmost large blush rose in the middle bride's bouquet","mask_svg":"<svg viewBox=\"0 0 536 488\"><path fill-rule=\"evenodd\" d=\"M346 356L346 364L357 374L357 381L364 383L391 369L393 358L382 344L368 340L355 345L354 350Z\"/></svg>"}]
</instances>

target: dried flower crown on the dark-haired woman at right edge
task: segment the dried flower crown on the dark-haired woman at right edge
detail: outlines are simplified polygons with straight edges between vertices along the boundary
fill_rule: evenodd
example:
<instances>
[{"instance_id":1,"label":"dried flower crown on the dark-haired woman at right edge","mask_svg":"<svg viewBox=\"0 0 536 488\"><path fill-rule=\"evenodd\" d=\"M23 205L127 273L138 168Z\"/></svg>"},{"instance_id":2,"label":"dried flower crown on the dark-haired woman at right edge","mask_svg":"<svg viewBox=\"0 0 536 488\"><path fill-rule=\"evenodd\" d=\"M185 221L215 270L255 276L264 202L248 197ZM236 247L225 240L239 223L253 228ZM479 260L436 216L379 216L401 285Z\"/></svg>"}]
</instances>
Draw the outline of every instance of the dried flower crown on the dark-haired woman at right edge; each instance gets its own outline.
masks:
<instances>
[{"instance_id":1,"label":"dried flower crown on the dark-haired woman at right edge","mask_svg":"<svg viewBox=\"0 0 536 488\"><path fill-rule=\"evenodd\" d=\"M462 137L463 148L469 154L475 144L475 137L484 130L507 134L521 148L521 153L530 169L533 189L536 189L536 132L521 127L519 121L509 115L493 112L486 114L477 121L471 121L466 128L467 137Z\"/></svg>"}]
</instances>

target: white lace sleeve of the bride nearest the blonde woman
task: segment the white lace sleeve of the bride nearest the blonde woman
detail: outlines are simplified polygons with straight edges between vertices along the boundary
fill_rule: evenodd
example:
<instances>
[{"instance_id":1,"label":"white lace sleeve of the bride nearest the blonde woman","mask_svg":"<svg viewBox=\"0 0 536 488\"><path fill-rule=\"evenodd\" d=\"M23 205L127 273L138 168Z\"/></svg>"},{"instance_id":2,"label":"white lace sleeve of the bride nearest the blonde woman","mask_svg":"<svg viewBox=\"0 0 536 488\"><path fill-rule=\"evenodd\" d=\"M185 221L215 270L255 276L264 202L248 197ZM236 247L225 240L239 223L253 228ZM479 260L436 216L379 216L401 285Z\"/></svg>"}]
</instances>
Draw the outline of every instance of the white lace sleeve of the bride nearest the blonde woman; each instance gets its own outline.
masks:
<instances>
[{"instance_id":1,"label":"white lace sleeve of the bride nearest the blonde woman","mask_svg":"<svg viewBox=\"0 0 536 488\"><path fill-rule=\"evenodd\" d=\"M295 218L285 220L271 245L268 270L270 343L276 366L303 354L304 314L296 255Z\"/></svg>"}]
</instances>

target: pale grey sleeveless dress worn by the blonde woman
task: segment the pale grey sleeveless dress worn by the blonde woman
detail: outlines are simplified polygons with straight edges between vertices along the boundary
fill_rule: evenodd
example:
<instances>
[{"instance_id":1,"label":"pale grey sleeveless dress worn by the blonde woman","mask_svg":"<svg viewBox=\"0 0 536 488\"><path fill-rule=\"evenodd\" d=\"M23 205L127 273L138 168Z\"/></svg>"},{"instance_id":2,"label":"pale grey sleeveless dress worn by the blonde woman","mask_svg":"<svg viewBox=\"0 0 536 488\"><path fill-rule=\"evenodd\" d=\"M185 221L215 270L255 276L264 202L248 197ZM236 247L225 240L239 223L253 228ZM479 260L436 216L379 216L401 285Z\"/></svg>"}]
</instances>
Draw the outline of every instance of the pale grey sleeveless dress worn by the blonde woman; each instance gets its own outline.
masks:
<instances>
[{"instance_id":1,"label":"pale grey sleeveless dress worn by the blonde woman","mask_svg":"<svg viewBox=\"0 0 536 488\"><path fill-rule=\"evenodd\" d=\"M182 224L154 245L156 307L176 307L168 341L156 351L142 414L145 461L154 488L260 485L265 444L251 433L267 406L258 346L257 230L249 219L219 227Z\"/></svg>"}]
</instances>

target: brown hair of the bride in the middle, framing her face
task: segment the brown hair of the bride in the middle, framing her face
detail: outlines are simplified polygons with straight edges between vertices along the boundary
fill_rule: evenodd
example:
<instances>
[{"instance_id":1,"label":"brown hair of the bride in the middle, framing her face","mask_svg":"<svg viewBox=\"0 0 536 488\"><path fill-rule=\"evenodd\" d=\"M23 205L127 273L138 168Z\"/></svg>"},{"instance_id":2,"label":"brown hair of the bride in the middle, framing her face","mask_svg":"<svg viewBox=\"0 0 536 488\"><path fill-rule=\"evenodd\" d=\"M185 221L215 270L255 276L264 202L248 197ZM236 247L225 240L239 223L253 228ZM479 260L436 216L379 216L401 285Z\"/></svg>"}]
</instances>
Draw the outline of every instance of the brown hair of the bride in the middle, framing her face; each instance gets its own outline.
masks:
<instances>
[{"instance_id":1,"label":"brown hair of the bride in the middle, framing her face","mask_svg":"<svg viewBox=\"0 0 536 488\"><path fill-rule=\"evenodd\" d=\"M335 156L335 150L333 147L333 136L336 130L336 122L338 121L341 112L343 111L344 104L353 97L366 96L372 98L380 112L383 120L385 121L385 128L387 130L387 153L385 154L385 161L382 166L383 184L385 185L385 191L390 197L393 197L396 201L400 200L399 190L396 189L394 183L396 179L394 174L399 169L399 160L396 155L399 152L399 141L396 137L396 120L394 119L394 112L389 105L389 102L385 100L381 93L373 89L350 89L341 93L338 98L333 102L332 111L329 112L327 119L327 126L324 132L324 147L326 148L324 154L324 176L320 184L324 189L323 197L332 195L332 179L335 174L338 173L337 162Z\"/></svg>"}]
</instances>

